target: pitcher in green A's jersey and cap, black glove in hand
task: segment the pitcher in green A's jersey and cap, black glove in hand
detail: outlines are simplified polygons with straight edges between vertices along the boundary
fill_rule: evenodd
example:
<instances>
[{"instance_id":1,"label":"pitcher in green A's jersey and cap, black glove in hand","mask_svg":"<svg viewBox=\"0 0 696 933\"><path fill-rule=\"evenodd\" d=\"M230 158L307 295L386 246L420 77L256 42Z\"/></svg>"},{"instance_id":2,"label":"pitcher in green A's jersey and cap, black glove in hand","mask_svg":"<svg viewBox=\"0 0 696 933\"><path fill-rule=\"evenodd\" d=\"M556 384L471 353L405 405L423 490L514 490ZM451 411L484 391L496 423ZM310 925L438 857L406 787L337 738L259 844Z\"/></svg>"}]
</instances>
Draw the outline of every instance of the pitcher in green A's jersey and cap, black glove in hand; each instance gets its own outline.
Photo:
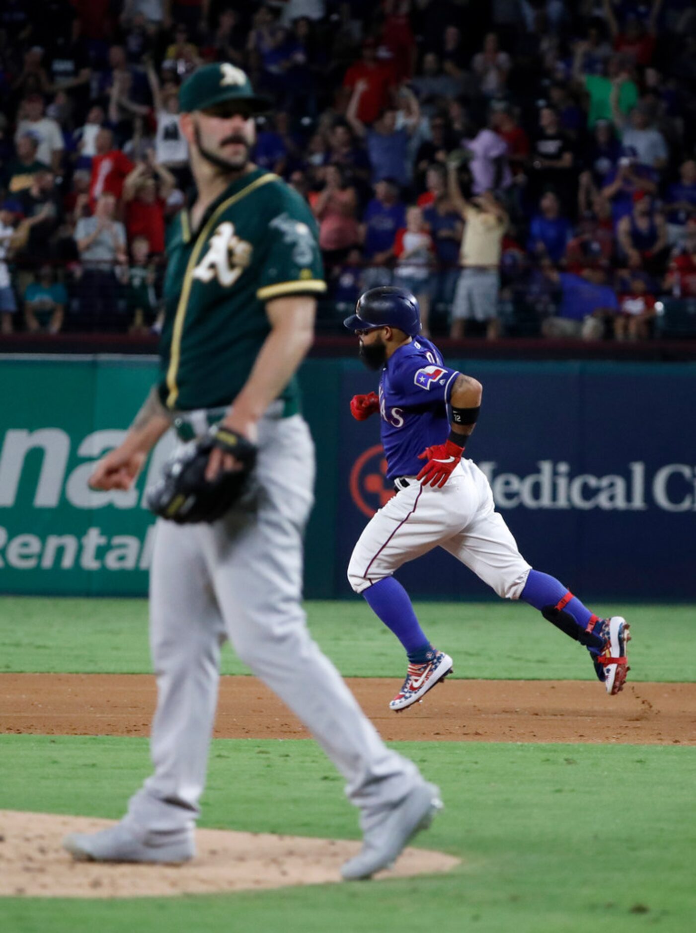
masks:
<instances>
[{"instance_id":1,"label":"pitcher in green A's jersey and cap, black glove in hand","mask_svg":"<svg viewBox=\"0 0 696 933\"><path fill-rule=\"evenodd\" d=\"M161 379L91 478L98 489L129 489L174 425L182 444L149 492L160 516L150 574L154 773L115 827L64 845L98 861L194 855L229 638L345 777L364 847L342 874L369 877L441 804L438 788L383 745L308 634L300 604L314 459L295 372L326 289L313 216L279 177L249 162L254 115L267 104L243 71L203 66L180 103L197 197L168 238Z\"/></svg>"}]
</instances>

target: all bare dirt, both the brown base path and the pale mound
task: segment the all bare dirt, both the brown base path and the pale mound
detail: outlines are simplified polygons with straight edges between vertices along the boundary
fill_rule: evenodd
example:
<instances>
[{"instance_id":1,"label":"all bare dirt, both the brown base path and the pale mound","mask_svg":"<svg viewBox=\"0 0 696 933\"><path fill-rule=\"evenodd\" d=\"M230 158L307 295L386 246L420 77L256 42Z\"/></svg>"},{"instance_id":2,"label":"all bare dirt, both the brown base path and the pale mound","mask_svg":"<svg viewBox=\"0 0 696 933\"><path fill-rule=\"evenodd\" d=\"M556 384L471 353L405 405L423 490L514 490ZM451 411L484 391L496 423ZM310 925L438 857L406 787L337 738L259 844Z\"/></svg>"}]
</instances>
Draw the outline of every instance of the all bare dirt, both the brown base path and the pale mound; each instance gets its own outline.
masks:
<instances>
[{"instance_id":1,"label":"all bare dirt, both the brown base path and the pale mound","mask_svg":"<svg viewBox=\"0 0 696 933\"><path fill-rule=\"evenodd\" d=\"M387 740L696 745L696 684L629 683L609 697L591 681L448 680L403 713L394 679L349 678ZM148 734L152 675L1 674L0 732ZM254 677L220 681L217 738L299 739L308 732ZM339 880L358 842L199 830L199 855L180 867L74 863L67 831L108 821L0 811L0 897L132 898L258 890ZM447 871L457 859L407 850L397 876Z\"/></svg>"}]
</instances>

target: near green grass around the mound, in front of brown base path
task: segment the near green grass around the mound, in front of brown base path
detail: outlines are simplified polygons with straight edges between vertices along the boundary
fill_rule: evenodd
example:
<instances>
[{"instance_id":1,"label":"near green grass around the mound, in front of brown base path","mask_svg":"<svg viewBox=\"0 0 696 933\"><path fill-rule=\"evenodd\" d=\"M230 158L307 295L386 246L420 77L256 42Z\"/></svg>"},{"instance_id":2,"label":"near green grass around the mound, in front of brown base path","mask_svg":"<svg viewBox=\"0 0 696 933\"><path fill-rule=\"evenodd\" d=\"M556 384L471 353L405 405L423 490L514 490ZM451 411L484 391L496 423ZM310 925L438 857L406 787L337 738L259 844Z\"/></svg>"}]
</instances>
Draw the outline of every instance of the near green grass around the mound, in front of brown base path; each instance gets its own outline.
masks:
<instances>
[{"instance_id":1,"label":"near green grass around the mound, in front of brown base path","mask_svg":"<svg viewBox=\"0 0 696 933\"><path fill-rule=\"evenodd\" d=\"M693 928L696 748L402 743L446 811L419 844L450 875L260 894L124 901L4 898L8 933L379 931L635 933ZM0 736L0 805L118 817L146 742ZM218 740L202 825L356 838L342 782L309 741ZM268 788L273 788L272 797Z\"/></svg>"}]
</instances>

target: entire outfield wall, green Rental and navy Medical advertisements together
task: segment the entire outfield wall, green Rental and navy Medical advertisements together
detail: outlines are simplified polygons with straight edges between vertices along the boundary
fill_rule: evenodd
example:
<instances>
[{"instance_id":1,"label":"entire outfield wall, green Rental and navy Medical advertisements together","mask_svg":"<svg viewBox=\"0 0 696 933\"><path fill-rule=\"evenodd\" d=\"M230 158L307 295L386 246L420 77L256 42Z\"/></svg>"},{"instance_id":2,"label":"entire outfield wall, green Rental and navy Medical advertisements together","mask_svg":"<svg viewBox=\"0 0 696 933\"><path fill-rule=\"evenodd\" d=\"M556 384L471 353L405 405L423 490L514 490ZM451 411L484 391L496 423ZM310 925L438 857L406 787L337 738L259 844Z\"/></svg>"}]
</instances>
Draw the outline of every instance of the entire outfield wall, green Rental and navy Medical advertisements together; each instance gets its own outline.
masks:
<instances>
[{"instance_id":1,"label":"entire outfield wall, green Rental and navy Medical advertisements together","mask_svg":"<svg viewBox=\"0 0 696 933\"><path fill-rule=\"evenodd\" d=\"M452 361L483 383L467 451L491 480L522 553L590 597L696 599L696 367ZM89 489L156 378L151 359L6 357L0 365L0 589L144 594L152 550L146 486L160 441L130 493ZM379 420L350 398L376 387L352 360L301 373L317 448L307 536L308 597L347 596L345 570L369 517L395 494ZM444 551L408 570L425 598L489 595Z\"/></svg>"}]
</instances>

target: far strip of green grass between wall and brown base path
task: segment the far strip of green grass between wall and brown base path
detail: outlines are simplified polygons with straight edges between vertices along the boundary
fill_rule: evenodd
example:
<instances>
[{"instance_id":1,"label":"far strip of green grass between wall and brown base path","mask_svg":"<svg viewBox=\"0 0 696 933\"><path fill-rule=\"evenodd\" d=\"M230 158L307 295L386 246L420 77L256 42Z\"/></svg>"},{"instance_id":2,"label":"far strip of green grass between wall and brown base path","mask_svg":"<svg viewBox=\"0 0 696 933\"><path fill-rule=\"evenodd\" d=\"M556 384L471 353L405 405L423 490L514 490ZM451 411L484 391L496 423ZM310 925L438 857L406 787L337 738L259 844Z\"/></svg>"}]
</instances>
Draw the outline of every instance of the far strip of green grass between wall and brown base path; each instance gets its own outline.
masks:
<instances>
[{"instance_id":1,"label":"far strip of green grass between wall and brown base path","mask_svg":"<svg viewBox=\"0 0 696 933\"><path fill-rule=\"evenodd\" d=\"M694 606L597 606L631 621L633 681L693 679ZM459 677L593 679L587 653L529 606L421 603L416 610ZM357 597L307 604L313 636L345 676L400 676L397 639ZM134 599L0 597L3 671L136 674L150 671L147 607ZM247 674L230 649L223 673Z\"/></svg>"}]
</instances>

